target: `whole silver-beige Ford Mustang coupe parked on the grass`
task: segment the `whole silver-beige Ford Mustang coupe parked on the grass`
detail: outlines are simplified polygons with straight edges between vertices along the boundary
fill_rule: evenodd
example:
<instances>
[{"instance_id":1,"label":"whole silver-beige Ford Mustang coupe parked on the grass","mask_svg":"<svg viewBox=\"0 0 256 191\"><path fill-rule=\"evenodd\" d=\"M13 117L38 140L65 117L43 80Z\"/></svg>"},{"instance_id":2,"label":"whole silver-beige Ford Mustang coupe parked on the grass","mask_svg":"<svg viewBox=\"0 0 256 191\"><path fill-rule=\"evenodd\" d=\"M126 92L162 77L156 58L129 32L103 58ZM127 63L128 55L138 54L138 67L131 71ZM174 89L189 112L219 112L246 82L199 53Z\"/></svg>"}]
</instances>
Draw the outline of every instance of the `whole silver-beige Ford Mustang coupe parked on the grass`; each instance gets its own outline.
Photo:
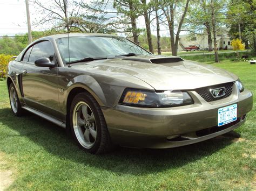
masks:
<instances>
[{"instance_id":1,"label":"whole silver-beige Ford Mustang coupe parked on the grass","mask_svg":"<svg viewBox=\"0 0 256 191\"><path fill-rule=\"evenodd\" d=\"M104 34L38 39L8 69L14 115L41 116L97 154L201 142L238 128L253 103L226 70Z\"/></svg>"}]
</instances>

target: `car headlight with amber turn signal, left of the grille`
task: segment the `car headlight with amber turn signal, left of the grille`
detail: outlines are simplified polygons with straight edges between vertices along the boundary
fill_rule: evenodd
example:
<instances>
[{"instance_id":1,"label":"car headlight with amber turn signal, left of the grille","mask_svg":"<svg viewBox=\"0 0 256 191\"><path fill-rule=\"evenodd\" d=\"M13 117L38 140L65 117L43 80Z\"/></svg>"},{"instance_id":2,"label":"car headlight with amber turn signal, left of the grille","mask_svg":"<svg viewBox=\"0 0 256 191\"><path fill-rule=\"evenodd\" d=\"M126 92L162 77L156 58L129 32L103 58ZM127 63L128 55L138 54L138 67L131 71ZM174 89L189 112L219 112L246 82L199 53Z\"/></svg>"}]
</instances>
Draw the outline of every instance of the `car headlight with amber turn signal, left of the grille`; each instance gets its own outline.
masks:
<instances>
[{"instance_id":1,"label":"car headlight with amber turn signal, left of the grille","mask_svg":"<svg viewBox=\"0 0 256 191\"><path fill-rule=\"evenodd\" d=\"M119 103L137 107L166 108L194 102L187 92L180 90L155 92L126 89Z\"/></svg>"}]
</instances>

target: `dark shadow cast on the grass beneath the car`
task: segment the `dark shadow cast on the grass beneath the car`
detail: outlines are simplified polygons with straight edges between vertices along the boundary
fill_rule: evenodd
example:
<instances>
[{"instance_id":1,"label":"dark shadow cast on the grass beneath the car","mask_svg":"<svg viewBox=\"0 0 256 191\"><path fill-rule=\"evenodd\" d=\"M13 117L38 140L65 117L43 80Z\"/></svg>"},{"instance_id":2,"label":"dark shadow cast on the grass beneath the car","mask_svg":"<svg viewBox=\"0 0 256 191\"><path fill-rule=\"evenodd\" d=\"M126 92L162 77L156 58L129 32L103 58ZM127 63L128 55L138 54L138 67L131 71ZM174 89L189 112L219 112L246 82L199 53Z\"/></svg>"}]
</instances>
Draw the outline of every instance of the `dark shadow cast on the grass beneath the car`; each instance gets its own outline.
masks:
<instances>
[{"instance_id":1,"label":"dark shadow cast on the grass beneath the car","mask_svg":"<svg viewBox=\"0 0 256 191\"><path fill-rule=\"evenodd\" d=\"M0 116L3 125L59 158L118 174L150 174L178 168L207 157L230 145L234 138L240 137L239 133L232 131L224 136L183 147L159 150L118 147L107 154L93 155L78 148L71 136L66 135L65 129L41 117L33 114L16 117L10 108L0 109ZM14 135L10 133L10 136Z\"/></svg>"}]
</instances>

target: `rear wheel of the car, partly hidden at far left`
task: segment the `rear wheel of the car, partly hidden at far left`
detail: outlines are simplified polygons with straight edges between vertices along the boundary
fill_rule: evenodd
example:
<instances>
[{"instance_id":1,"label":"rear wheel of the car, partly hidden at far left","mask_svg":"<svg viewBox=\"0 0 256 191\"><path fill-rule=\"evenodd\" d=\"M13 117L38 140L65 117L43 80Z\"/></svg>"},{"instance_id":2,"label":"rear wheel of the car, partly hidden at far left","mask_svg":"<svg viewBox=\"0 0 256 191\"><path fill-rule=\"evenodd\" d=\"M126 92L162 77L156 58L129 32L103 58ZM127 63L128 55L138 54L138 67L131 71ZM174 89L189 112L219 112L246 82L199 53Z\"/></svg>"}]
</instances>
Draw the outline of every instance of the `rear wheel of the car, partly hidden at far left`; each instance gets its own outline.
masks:
<instances>
[{"instance_id":1,"label":"rear wheel of the car, partly hidden at far left","mask_svg":"<svg viewBox=\"0 0 256 191\"><path fill-rule=\"evenodd\" d=\"M12 113L18 117L22 116L24 114L24 110L21 107L21 102L19 102L19 97L13 83L9 86L9 100Z\"/></svg>"}]
</instances>

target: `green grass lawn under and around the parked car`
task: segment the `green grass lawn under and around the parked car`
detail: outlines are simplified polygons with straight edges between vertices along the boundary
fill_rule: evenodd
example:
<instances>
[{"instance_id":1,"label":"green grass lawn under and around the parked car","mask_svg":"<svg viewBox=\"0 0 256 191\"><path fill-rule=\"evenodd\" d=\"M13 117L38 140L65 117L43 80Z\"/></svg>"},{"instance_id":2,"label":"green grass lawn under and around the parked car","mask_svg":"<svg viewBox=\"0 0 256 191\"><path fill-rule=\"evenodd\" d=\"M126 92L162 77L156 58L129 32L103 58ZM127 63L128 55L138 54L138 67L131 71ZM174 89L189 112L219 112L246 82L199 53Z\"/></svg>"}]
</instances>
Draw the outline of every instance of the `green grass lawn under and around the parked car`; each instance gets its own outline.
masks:
<instances>
[{"instance_id":1,"label":"green grass lawn under and around the parked car","mask_svg":"<svg viewBox=\"0 0 256 191\"><path fill-rule=\"evenodd\" d=\"M239 75L256 93L256 65L214 66ZM203 143L165 149L118 148L106 155L80 150L65 130L35 115L12 115L0 82L0 172L14 172L8 189L256 189L256 107L232 133ZM1 164L5 164L2 165Z\"/></svg>"}]
</instances>

